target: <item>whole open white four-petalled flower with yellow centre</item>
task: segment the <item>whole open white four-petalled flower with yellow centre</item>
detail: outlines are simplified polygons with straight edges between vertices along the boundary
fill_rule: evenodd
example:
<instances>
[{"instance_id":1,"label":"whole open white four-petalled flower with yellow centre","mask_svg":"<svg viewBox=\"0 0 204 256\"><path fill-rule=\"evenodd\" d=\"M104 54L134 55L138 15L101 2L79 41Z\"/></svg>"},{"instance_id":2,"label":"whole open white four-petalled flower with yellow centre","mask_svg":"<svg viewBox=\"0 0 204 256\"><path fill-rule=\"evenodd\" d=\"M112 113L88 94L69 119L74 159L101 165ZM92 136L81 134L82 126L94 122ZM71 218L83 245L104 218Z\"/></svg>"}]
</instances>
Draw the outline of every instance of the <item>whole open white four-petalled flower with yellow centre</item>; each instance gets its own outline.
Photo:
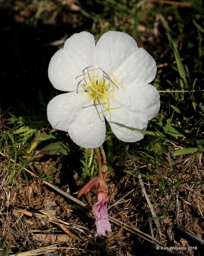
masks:
<instances>
[{"instance_id":1,"label":"whole open white four-petalled flower with yellow centre","mask_svg":"<svg viewBox=\"0 0 204 256\"><path fill-rule=\"evenodd\" d=\"M141 132L123 126L145 130L158 113L159 93L149 84L156 70L151 55L126 33L109 31L96 45L92 34L74 34L49 63L49 80L68 93L49 102L48 120L84 148L103 144L104 117L118 139L141 140Z\"/></svg>"}]
</instances>

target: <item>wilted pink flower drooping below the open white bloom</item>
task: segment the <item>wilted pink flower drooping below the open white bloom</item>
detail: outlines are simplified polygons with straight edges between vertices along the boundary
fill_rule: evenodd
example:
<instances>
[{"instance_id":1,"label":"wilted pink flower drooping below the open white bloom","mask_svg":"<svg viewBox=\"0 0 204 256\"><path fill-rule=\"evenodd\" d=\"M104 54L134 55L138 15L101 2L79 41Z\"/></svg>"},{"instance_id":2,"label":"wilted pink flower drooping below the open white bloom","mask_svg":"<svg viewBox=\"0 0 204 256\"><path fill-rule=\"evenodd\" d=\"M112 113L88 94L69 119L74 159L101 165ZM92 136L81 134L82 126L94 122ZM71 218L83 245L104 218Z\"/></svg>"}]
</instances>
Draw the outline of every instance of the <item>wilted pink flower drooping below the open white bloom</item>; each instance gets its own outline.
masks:
<instances>
[{"instance_id":1,"label":"wilted pink flower drooping below the open white bloom","mask_svg":"<svg viewBox=\"0 0 204 256\"><path fill-rule=\"evenodd\" d=\"M110 222L108 220L108 186L104 180L98 177L92 178L78 193L81 196L96 185L96 204L92 206L92 213L95 217L94 235L103 235L105 232L111 232Z\"/></svg>"}]
</instances>

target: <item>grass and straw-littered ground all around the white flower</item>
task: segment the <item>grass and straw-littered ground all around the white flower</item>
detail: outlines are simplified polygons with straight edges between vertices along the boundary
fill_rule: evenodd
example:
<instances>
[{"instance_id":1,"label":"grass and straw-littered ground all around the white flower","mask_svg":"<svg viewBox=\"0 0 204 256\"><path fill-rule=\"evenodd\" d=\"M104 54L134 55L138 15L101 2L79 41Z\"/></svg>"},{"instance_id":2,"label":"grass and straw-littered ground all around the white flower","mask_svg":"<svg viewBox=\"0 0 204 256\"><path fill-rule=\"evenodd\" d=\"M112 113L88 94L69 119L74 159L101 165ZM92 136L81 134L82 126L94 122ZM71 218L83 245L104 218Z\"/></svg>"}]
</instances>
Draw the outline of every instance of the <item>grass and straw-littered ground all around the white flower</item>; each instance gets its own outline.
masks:
<instances>
[{"instance_id":1,"label":"grass and straw-littered ground all around the white flower","mask_svg":"<svg viewBox=\"0 0 204 256\"><path fill-rule=\"evenodd\" d=\"M8 18L1 30L6 53L0 94L0 256L202 256L202 1L0 2ZM82 168L87 168L80 160L89 161L90 152L73 146L68 134L51 130L45 114L56 93L47 80L49 60L68 36L82 30L96 38L107 30L136 38L157 61L154 85L161 94L160 113L141 142L129 144L127 150L108 131L104 146L110 166L106 182L112 232L97 238L90 231L94 192L77 199L84 182ZM187 84L166 32L182 54ZM179 135L170 136L175 130ZM63 151L63 157L43 151L44 142L63 140L70 150ZM180 149L190 151L179 156ZM162 246L169 249L161 250Z\"/></svg>"}]
</instances>

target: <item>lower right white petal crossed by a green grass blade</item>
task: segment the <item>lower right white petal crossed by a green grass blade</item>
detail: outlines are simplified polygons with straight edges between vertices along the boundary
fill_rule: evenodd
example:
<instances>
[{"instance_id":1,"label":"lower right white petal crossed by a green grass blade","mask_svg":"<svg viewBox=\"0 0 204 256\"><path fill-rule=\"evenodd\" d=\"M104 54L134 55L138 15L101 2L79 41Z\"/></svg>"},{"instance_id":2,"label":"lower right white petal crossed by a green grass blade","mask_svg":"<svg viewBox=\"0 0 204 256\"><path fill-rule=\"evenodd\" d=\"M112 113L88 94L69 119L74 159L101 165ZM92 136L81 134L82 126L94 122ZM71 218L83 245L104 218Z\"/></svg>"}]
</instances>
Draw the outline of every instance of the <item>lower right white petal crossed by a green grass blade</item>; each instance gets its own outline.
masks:
<instances>
[{"instance_id":1,"label":"lower right white petal crossed by a green grass blade","mask_svg":"<svg viewBox=\"0 0 204 256\"><path fill-rule=\"evenodd\" d=\"M135 142L143 138L141 132L122 128L130 126L145 130L148 120L156 116L159 111L160 101L157 89L146 84L135 88L133 86L126 90L116 90L114 98L110 100L110 108L117 108L103 112L106 120L111 123L113 133L116 137L125 142ZM120 107L120 108L118 108Z\"/></svg>"}]
</instances>

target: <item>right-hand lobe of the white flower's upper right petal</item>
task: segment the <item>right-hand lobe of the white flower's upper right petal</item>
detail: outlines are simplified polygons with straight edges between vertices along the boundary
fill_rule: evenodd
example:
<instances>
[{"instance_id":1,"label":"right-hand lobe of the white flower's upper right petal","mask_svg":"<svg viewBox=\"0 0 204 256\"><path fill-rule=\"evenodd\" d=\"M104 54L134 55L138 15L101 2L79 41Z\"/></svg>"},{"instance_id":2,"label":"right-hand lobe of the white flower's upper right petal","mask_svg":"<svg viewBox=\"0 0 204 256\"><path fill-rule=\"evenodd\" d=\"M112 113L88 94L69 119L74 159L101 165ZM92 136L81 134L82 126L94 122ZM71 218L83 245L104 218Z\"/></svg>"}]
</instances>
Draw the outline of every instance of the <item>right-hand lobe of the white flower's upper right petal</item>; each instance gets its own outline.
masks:
<instances>
[{"instance_id":1,"label":"right-hand lobe of the white flower's upper right petal","mask_svg":"<svg viewBox=\"0 0 204 256\"><path fill-rule=\"evenodd\" d=\"M129 84L141 85L150 83L156 75L157 66L152 56L143 48L124 60L120 67L114 72L114 76L124 86Z\"/></svg>"}]
</instances>

